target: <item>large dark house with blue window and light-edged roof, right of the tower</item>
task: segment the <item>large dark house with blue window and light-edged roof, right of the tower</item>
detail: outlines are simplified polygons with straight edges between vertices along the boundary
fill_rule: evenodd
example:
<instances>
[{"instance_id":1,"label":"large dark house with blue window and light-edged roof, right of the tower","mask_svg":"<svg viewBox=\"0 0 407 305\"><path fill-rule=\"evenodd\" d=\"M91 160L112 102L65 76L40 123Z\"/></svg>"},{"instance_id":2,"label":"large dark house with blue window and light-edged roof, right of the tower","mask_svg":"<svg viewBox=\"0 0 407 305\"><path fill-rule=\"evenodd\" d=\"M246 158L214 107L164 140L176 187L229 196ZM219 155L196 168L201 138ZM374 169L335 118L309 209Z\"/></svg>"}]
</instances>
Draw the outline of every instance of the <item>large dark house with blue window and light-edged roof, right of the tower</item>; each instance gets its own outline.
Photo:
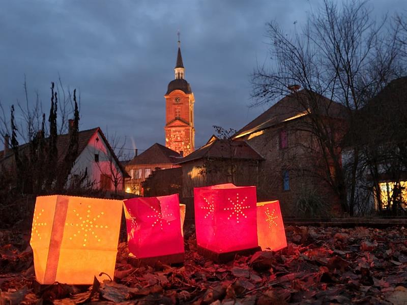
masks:
<instances>
[{"instance_id":1,"label":"large dark house with blue window and light-edged roof, right of the tower","mask_svg":"<svg viewBox=\"0 0 407 305\"><path fill-rule=\"evenodd\" d=\"M246 141L265 158L259 168L257 199L280 200L286 216L299 215L301 209L314 215L324 209L339 212L339 195L332 185L340 173L345 117L343 105L303 89L283 97L240 129L232 138ZM323 158L314 130L317 120L335 142L335 162L330 156ZM316 211L306 212L311 205Z\"/></svg>"}]
</instances>

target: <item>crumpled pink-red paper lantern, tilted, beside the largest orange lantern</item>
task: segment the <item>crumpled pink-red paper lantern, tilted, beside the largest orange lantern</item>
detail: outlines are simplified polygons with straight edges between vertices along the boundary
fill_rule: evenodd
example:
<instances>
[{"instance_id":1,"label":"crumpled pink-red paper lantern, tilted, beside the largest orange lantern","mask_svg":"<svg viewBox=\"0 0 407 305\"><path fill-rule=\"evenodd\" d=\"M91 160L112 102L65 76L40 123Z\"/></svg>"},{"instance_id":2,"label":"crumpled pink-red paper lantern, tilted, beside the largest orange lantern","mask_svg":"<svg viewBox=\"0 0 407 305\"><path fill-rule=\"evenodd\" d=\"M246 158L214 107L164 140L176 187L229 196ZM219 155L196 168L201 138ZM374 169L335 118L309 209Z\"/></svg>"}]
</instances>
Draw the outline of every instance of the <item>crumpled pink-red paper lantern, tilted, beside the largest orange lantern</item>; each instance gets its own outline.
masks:
<instances>
[{"instance_id":1,"label":"crumpled pink-red paper lantern, tilted, beside the largest orange lantern","mask_svg":"<svg viewBox=\"0 0 407 305\"><path fill-rule=\"evenodd\" d=\"M178 194L124 200L130 256L153 258L184 253Z\"/></svg>"}]
</instances>

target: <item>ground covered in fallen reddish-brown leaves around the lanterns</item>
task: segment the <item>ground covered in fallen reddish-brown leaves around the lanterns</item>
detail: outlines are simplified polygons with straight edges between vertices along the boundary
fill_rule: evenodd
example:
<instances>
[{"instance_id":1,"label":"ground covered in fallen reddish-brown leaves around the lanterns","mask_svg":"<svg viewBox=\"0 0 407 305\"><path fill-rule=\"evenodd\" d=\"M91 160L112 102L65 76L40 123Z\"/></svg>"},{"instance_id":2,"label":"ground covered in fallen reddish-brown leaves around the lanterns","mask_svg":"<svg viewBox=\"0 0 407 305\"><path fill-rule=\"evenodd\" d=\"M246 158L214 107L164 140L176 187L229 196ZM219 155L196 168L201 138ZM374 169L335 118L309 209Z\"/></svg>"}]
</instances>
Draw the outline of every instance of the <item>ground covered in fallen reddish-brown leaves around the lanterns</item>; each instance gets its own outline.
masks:
<instances>
[{"instance_id":1,"label":"ground covered in fallen reddish-brown leaves around the lanterns","mask_svg":"<svg viewBox=\"0 0 407 305\"><path fill-rule=\"evenodd\" d=\"M407 229L286 227L288 247L214 264L186 230L185 263L134 268L119 245L114 281L37 287L29 236L0 232L3 304L407 304Z\"/></svg>"}]
</instances>

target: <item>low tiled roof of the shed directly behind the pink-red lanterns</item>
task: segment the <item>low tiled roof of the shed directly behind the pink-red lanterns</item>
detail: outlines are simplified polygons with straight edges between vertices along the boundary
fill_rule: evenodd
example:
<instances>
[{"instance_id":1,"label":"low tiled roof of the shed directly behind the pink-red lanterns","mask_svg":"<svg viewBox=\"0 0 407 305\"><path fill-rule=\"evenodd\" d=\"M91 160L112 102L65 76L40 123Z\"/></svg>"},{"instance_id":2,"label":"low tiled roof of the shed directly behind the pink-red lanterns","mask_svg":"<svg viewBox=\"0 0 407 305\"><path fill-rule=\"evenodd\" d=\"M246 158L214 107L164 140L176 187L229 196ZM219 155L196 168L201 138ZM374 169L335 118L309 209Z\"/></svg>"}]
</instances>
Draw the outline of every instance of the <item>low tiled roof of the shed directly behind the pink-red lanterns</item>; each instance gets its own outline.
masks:
<instances>
[{"instance_id":1,"label":"low tiled roof of the shed directly behind the pink-red lanterns","mask_svg":"<svg viewBox=\"0 0 407 305\"><path fill-rule=\"evenodd\" d=\"M263 157L245 141L214 139L212 142L181 159L177 164L202 158L263 160Z\"/></svg>"}]
</instances>

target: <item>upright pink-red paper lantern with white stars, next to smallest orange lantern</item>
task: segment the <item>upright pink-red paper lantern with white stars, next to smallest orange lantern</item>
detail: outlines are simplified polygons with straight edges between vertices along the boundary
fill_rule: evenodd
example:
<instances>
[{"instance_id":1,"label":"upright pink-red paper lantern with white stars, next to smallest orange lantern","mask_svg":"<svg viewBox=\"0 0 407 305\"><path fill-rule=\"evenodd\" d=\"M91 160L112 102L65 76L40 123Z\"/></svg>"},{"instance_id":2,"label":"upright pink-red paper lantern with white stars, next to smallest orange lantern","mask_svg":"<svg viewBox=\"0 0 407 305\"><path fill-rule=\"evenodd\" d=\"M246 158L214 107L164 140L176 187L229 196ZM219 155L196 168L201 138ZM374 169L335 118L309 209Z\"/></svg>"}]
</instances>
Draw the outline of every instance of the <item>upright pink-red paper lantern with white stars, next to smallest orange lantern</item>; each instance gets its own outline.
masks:
<instances>
[{"instance_id":1,"label":"upright pink-red paper lantern with white stars, next to smallest orange lantern","mask_svg":"<svg viewBox=\"0 0 407 305\"><path fill-rule=\"evenodd\" d=\"M194 210L199 247L215 253L257 247L255 187L194 188Z\"/></svg>"}]
</instances>

